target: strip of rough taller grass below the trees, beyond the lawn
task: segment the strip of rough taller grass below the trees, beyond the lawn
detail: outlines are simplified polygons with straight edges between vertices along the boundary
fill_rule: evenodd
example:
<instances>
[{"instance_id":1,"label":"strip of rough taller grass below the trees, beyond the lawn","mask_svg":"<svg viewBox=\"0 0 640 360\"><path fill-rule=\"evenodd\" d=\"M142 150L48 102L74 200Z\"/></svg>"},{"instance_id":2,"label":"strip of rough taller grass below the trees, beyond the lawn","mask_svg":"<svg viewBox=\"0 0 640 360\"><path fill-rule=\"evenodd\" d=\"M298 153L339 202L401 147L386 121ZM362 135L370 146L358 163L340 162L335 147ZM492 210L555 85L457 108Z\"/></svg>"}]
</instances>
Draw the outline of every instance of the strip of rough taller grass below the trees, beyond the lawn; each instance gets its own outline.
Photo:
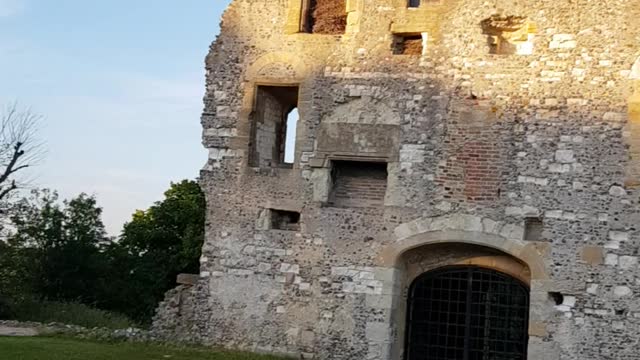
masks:
<instances>
[{"instance_id":1,"label":"strip of rough taller grass below the trees, beyond the lawn","mask_svg":"<svg viewBox=\"0 0 640 360\"><path fill-rule=\"evenodd\" d=\"M126 329L137 327L124 315L94 309L79 303L28 300L13 304L11 320L62 323L86 328Z\"/></svg>"}]
</instances>

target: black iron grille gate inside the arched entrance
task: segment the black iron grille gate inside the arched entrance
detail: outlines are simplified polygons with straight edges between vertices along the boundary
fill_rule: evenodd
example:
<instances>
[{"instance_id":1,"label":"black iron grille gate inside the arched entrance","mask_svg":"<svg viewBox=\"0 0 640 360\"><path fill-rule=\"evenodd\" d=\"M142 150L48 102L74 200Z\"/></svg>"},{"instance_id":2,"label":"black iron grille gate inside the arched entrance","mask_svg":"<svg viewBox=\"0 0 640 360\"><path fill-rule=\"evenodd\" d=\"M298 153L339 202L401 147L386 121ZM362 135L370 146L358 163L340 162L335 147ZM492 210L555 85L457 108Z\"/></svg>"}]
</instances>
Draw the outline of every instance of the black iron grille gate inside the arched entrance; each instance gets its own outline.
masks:
<instances>
[{"instance_id":1,"label":"black iron grille gate inside the arched entrance","mask_svg":"<svg viewBox=\"0 0 640 360\"><path fill-rule=\"evenodd\" d=\"M479 267L428 272L409 292L407 360L525 360L529 289Z\"/></svg>"}]
</instances>

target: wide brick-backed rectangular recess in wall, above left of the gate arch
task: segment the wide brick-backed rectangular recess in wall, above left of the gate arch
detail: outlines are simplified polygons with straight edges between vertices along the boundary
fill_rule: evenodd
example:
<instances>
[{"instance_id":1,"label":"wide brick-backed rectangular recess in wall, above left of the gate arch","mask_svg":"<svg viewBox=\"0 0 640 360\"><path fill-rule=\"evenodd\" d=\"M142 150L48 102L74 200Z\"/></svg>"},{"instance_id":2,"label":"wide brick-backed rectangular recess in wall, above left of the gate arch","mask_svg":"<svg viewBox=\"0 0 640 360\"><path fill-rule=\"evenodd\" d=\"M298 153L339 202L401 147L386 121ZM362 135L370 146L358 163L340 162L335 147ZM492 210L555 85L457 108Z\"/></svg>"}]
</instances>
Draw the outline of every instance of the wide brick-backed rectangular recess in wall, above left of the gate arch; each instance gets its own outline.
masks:
<instances>
[{"instance_id":1,"label":"wide brick-backed rectangular recess in wall, above left of the gate arch","mask_svg":"<svg viewBox=\"0 0 640 360\"><path fill-rule=\"evenodd\" d=\"M332 161L333 187L330 205L378 207L387 192L387 164L381 162Z\"/></svg>"}]
</instances>

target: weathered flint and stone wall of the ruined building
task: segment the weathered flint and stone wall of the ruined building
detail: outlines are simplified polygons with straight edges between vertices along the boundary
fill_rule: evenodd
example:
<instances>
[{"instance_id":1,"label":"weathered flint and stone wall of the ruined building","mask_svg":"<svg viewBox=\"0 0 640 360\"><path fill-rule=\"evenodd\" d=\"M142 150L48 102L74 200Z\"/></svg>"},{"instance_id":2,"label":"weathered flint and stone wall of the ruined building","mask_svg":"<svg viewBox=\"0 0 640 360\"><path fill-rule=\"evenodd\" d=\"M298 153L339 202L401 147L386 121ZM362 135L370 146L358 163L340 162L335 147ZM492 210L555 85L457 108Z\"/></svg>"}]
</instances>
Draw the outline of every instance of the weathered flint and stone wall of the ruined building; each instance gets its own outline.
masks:
<instances>
[{"instance_id":1,"label":"weathered flint and stone wall of the ruined building","mask_svg":"<svg viewBox=\"0 0 640 360\"><path fill-rule=\"evenodd\" d=\"M529 284L529 359L637 359L640 1L349 0L340 36L298 33L302 4L224 15L206 60L200 279L168 294L156 331L400 359L410 281L473 264ZM496 15L521 21L487 33ZM398 34L420 34L422 55L394 54ZM255 127L265 85L299 86L293 168ZM336 161L385 163L384 200L335 206ZM299 230L272 229L269 209L300 212Z\"/></svg>"}]
</instances>

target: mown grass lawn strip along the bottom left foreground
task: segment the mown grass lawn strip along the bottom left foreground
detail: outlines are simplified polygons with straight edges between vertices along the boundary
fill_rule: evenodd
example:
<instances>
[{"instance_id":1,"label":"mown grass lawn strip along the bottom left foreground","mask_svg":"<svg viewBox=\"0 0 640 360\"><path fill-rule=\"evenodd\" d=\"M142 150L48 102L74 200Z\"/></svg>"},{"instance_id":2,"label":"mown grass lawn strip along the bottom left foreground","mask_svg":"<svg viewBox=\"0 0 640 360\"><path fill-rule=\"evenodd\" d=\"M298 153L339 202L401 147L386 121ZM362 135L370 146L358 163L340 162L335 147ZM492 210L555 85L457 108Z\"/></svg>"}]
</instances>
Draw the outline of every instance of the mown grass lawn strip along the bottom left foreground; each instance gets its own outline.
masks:
<instances>
[{"instance_id":1,"label":"mown grass lawn strip along the bottom left foreground","mask_svg":"<svg viewBox=\"0 0 640 360\"><path fill-rule=\"evenodd\" d=\"M133 343L98 343L66 338L0 337L2 360L282 360L243 353L179 349Z\"/></svg>"}]
</instances>

